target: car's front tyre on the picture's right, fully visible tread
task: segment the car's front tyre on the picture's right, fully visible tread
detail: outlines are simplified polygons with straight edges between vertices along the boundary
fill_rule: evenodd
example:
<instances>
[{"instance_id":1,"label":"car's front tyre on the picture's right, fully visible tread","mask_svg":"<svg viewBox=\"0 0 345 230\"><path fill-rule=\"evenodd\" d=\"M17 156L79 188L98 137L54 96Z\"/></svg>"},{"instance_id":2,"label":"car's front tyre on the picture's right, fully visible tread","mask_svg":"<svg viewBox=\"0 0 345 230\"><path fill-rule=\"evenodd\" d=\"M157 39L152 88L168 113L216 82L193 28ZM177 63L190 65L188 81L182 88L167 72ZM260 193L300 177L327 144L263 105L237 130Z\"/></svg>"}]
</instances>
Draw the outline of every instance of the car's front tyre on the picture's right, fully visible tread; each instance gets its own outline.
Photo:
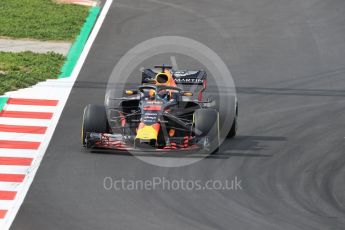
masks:
<instances>
[{"instance_id":1,"label":"car's front tyre on the picture's right, fully visible tread","mask_svg":"<svg viewBox=\"0 0 345 230\"><path fill-rule=\"evenodd\" d=\"M215 109L197 109L194 112L195 137L208 153L219 149L219 113Z\"/></svg>"}]
</instances>

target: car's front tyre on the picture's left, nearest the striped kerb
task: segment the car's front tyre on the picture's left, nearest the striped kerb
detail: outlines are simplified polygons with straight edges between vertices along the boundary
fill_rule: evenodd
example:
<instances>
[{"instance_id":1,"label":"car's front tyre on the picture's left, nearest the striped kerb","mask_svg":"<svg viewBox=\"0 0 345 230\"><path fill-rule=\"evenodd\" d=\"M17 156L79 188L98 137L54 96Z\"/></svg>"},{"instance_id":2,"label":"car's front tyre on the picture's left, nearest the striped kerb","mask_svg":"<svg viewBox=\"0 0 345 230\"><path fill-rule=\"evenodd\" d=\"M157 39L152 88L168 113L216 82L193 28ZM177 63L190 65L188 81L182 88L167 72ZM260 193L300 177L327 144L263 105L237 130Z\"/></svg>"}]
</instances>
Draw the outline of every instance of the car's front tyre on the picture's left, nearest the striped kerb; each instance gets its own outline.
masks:
<instances>
[{"instance_id":1,"label":"car's front tyre on the picture's left, nearest the striped kerb","mask_svg":"<svg viewBox=\"0 0 345 230\"><path fill-rule=\"evenodd\" d=\"M108 131L109 124L105 107L103 105L87 105L84 109L81 130L82 145L87 147L87 133L107 133Z\"/></svg>"}]
</instances>

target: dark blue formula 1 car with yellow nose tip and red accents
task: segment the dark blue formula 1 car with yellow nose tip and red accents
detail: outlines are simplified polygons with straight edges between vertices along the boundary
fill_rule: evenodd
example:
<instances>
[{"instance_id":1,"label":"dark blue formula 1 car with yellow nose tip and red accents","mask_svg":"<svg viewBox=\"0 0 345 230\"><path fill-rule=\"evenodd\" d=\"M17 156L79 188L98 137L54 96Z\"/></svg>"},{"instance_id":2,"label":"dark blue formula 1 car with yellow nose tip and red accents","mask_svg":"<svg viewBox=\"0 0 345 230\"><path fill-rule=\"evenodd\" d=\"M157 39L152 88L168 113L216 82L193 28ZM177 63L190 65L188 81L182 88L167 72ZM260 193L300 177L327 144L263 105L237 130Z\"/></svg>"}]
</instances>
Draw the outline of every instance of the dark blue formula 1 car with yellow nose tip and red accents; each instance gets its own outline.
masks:
<instances>
[{"instance_id":1,"label":"dark blue formula 1 car with yellow nose tip and red accents","mask_svg":"<svg viewBox=\"0 0 345 230\"><path fill-rule=\"evenodd\" d=\"M203 100L206 76L203 70L173 71L164 65L145 69L141 85L125 90L125 96L108 93L105 105L85 107L82 145L121 151L216 151L219 112L211 100ZM197 99L191 99L193 92L182 90L181 85L198 88ZM228 137L236 135L234 109Z\"/></svg>"}]
</instances>

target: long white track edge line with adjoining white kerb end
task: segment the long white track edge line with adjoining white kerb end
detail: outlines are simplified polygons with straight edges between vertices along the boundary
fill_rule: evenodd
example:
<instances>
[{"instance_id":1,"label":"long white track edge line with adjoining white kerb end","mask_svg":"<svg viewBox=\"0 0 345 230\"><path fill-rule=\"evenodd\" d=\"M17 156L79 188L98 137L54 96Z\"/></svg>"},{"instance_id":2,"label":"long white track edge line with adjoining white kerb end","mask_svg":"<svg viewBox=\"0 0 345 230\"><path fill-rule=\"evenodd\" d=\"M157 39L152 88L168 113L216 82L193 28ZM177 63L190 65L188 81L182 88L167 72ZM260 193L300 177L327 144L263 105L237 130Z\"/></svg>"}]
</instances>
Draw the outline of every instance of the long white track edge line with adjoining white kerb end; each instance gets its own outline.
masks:
<instances>
[{"instance_id":1,"label":"long white track edge line with adjoining white kerb end","mask_svg":"<svg viewBox=\"0 0 345 230\"><path fill-rule=\"evenodd\" d=\"M47 130L47 133L45 135L44 141L42 142L39 150L38 150L38 155L36 156L36 158L34 159L34 162L32 163L32 166L30 168L31 172L25 177L24 181L23 181L23 189L21 189L20 191L18 191L15 202L14 202L14 206L13 208L8 210L8 213L5 217L5 222L3 223L3 226L1 226L1 229L3 230L7 230L10 228L21 204L24 201L25 195L29 190L29 187L34 179L34 176L38 170L38 167L41 163L41 160L44 156L44 153L46 152L49 142L53 136L53 133L55 131L55 128L59 122L60 116L62 114L63 108L67 102L67 99L69 97L69 94L71 93L72 87L74 85L74 82L76 81L80 70L85 62L85 59L91 49L91 46L93 44L93 42L95 41L97 34L103 24L103 21L111 7L113 0L107 0L103 6L102 12L100 13L96 24L94 25L94 28L85 44L85 47L83 49L83 52L81 53L78 62L72 72L72 75L67 78L67 79L61 79L61 80L57 80L56 81L56 85L59 85L58 82L63 82L63 86L64 87L55 87L55 85L52 85L52 87L45 87L45 85L42 84L39 87L32 87L29 88L27 90L23 90L20 91L20 93L15 94L13 93L13 97L26 97L26 98L42 98L42 95L44 95L44 98L46 99L59 99L59 104L57 106L57 110L54 113L53 119L51 120L51 123L49 125L49 128ZM36 91L35 91L36 90ZM36 93L33 94L32 92L35 91ZM8 96L11 97L12 93L9 93ZM31 119L33 120L33 119ZM1 121L1 120L0 120ZM29 125L29 124L28 124ZM33 125L33 123L31 123L31 125ZM34 125L37 125L37 123L35 123ZM44 125L44 124L42 124ZM0 170L1 170L1 166L0 166Z\"/></svg>"}]
</instances>

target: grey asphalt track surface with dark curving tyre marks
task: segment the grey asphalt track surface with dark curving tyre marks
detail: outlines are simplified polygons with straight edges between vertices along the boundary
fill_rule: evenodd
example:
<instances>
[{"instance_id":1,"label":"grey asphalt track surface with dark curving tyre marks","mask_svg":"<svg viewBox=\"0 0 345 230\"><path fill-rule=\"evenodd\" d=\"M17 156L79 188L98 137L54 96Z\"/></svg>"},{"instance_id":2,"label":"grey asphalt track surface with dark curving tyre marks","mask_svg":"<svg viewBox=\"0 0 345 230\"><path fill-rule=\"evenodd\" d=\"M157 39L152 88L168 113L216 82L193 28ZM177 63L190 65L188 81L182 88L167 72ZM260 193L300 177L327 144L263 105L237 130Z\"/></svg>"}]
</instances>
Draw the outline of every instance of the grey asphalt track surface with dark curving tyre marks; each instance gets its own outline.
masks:
<instances>
[{"instance_id":1,"label":"grey asphalt track surface with dark curving tyre marks","mask_svg":"<svg viewBox=\"0 0 345 230\"><path fill-rule=\"evenodd\" d=\"M84 152L83 107L103 102L126 51L162 35L200 41L228 64L238 137L178 168ZM344 229L344 76L343 0L116 1L12 229ZM237 176L242 190L107 191L108 176Z\"/></svg>"}]
</instances>

